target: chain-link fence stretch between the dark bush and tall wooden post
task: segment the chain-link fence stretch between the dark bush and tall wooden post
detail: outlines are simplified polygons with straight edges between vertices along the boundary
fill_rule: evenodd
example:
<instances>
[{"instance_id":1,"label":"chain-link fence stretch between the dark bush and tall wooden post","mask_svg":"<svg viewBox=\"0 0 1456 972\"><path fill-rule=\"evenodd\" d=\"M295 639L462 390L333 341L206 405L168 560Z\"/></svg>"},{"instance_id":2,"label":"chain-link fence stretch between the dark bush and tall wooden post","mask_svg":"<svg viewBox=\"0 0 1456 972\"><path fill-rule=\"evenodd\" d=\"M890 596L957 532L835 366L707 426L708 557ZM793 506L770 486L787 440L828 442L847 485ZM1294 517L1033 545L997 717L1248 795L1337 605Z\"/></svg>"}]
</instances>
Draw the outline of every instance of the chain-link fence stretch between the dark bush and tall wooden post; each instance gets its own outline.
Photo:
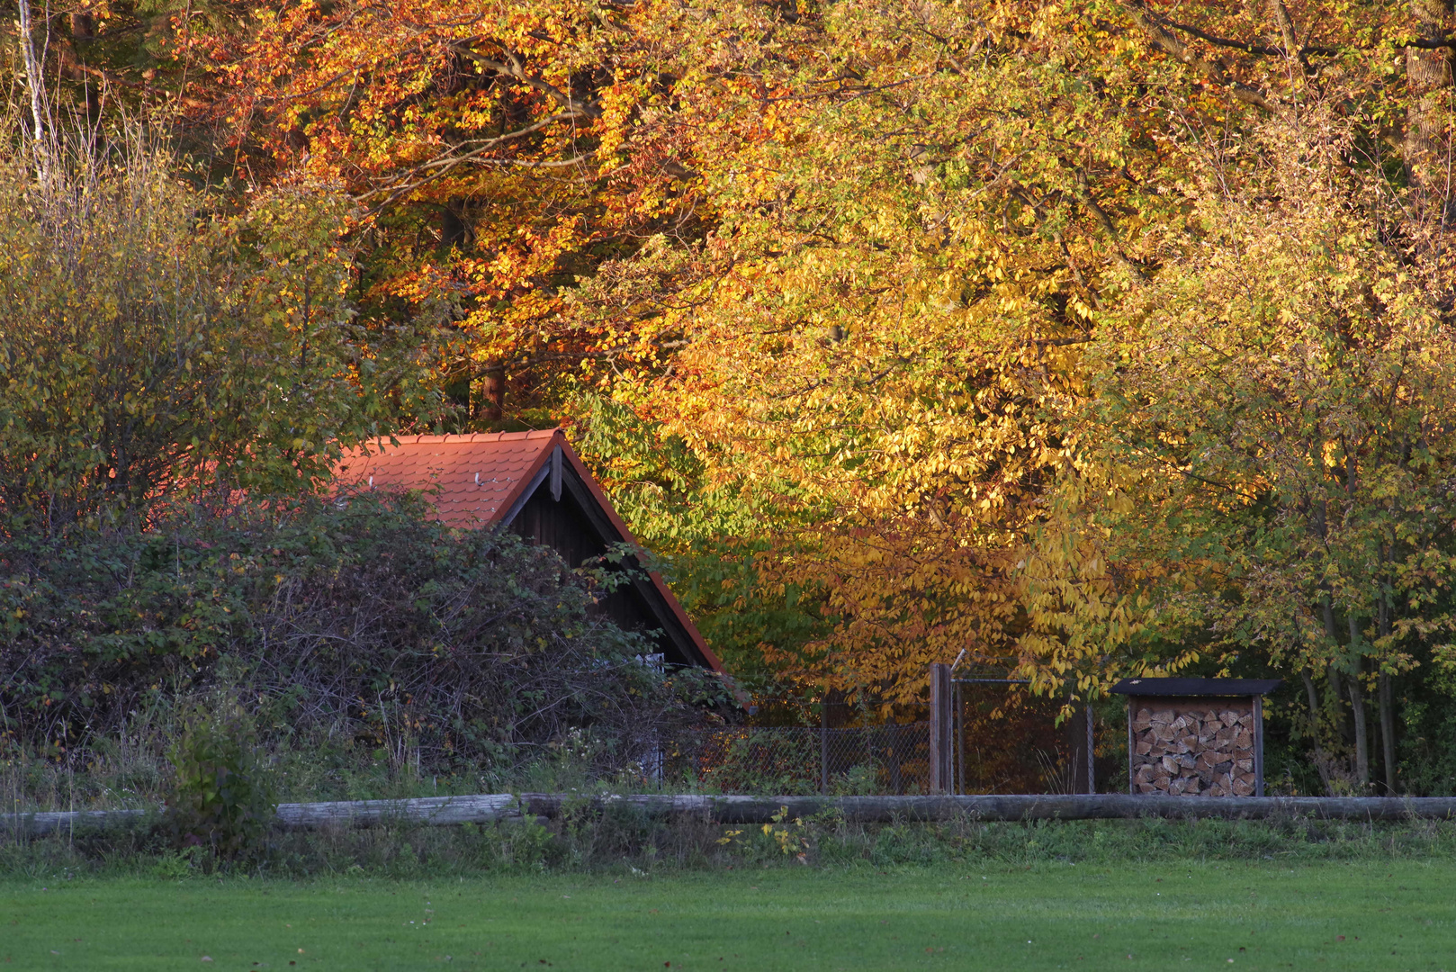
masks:
<instances>
[{"instance_id":1,"label":"chain-link fence stretch between the dark bush and tall wooden post","mask_svg":"<svg viewBox=\"0 0 1456 972\"><path fill-rule=\"evenodd\" d=\"M930 781L929 723L732 727L664 748L668 777L718 793L913 794Z\"/></svg>"}]
</instances>

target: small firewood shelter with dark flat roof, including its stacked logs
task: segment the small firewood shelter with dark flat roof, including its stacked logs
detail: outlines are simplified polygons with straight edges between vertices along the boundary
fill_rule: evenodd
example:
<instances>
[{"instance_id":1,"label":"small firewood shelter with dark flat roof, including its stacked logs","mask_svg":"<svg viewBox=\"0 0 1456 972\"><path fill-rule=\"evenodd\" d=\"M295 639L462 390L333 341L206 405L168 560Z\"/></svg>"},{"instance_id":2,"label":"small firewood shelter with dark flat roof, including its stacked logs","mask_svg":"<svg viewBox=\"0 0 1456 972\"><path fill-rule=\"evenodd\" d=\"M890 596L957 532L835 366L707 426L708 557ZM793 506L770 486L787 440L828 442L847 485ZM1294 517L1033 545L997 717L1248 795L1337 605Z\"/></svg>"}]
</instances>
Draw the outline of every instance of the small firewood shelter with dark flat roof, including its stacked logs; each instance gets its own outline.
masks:
<instances>
[{"instance_id":1,"label":"small firewood shelter with dark flat roof, including its stacked logs","mask_svg":"<svg viewBox=\"0 0 1456 972\"><path fill-rule=\"evenodd\" d=\"M1123 679L1128 791L1264 796L1264 695L1281 679Z\"/></svg>"}]
</instances>

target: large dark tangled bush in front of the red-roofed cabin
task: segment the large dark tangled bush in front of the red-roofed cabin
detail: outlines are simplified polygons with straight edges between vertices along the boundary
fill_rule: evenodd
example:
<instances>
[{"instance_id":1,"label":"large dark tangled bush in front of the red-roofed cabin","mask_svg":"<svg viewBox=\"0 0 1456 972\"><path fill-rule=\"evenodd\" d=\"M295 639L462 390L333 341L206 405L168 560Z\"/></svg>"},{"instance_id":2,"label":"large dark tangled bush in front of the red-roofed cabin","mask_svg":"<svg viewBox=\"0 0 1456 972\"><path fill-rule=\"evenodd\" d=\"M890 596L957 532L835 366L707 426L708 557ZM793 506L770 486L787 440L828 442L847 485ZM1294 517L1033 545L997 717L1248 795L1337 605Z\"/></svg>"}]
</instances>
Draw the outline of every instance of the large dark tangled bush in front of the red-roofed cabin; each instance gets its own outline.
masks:
<instances>
[{"instance_id":1,"label":"large dark tangled bush in front of the red-roofed cabin","mask_svg":"<svg viewBox=\"0 0 1456 972\"><path fill-rule=\"evenodd\" d=\"M173 507L149 530L0 535L0 746L77 764L134 713L243 701L269 746L508 772L578 729L603 767L702 718L594 581L409 497ZM167 720L175 721L175 720Z\"/></svg>"}]
</instances>

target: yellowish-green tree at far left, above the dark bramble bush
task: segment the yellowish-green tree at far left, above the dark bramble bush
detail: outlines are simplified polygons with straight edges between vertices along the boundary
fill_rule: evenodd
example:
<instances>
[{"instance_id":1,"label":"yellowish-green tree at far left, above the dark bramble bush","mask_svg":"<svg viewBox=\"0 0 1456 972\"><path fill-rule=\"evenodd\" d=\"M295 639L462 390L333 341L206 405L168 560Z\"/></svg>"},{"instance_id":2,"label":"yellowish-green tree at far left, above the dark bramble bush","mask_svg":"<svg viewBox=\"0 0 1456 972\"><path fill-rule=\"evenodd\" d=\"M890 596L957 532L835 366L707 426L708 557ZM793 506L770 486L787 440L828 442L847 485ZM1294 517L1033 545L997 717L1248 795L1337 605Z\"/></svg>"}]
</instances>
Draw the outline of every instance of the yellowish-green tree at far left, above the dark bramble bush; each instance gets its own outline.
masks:
<instances>
[{"instance_id":1,"label":"yellowish-green tree at far left, above the dark bramble bush","mask_svg":"<svg viewBox=\"0 0 1456 972\"><path fill-rule=\"evenodd\" d=\"M214 219L138 130L47 130L10 133L0 162L10 528L138 526L179 491L309 488L341 442L387 431L380 386L418 386L416 347L354 326L341 200L280 185Z\"/></svg>"}]
</instances>

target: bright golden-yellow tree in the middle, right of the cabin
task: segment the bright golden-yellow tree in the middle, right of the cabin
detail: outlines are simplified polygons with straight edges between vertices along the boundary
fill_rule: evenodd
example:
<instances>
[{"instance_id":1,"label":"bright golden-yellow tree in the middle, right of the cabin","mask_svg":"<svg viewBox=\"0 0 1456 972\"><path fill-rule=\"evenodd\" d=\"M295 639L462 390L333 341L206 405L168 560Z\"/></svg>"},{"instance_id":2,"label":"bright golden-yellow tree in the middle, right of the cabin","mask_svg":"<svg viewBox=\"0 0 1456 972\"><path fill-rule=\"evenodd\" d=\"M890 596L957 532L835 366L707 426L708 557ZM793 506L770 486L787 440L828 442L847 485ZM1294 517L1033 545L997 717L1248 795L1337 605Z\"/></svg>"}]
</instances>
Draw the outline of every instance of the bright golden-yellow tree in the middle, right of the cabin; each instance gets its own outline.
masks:
<instances>
[{"instance_id":1,"label":"bright golden-yellow tree in the middle, right of the cabin","mask_svg":"<svg viewBox=\"0 0 1456 972\"><path fill-rule=\"evenodd\" d=\"M709 488L775 510L759 596L802 590L827 628L763 647L805 681L911 701L926 663L968 648L1064 691L1021 650L1016 564L1104 274L1149 262L1118 222L1182 205L1156 105L1105 83L1146 51L1102 13L721 12L678 89L716 122L690 128L713 232L581 294L687 337L613 393L689 443ZM671 297L641 290L674 264Z\"/></svg>"}]
</instances>

